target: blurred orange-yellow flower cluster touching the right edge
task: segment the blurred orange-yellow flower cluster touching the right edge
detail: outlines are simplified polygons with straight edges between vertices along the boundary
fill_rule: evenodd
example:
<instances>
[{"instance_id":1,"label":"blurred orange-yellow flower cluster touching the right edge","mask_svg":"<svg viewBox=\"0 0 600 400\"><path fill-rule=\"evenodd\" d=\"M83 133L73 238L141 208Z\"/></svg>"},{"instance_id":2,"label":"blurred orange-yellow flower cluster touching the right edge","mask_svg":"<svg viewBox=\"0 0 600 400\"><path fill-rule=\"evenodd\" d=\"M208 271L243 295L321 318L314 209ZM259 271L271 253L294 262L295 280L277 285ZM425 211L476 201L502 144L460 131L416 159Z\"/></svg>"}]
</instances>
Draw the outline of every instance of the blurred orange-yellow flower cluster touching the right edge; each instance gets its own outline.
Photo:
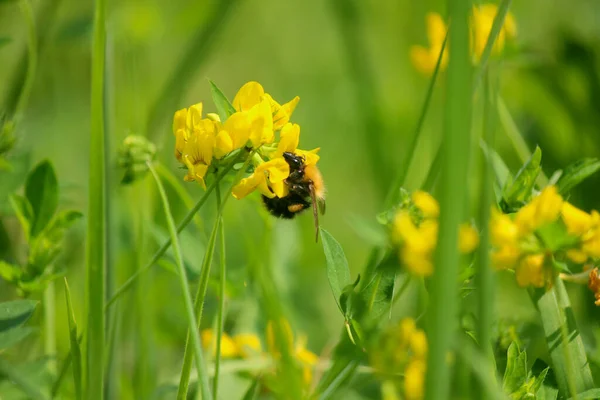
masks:
<instances>
[{"instance_id":1,"label":"blurred orange-yellow flower cluster touching the right edge","mask_svg":"<svg viewBox=\"0 0 600 400\"><path fill-rule=\"evenodd\" d=\"M544 287L553 277L551 250L536 232L562 221L573 245L562 250L576 264L600 257L600 215L588 214L563 200L556 187L548 186L512 218L492 210L490 221L494 249L492 263L498 269L514 269L520 286Z\"/></svg>"}]
</instances>

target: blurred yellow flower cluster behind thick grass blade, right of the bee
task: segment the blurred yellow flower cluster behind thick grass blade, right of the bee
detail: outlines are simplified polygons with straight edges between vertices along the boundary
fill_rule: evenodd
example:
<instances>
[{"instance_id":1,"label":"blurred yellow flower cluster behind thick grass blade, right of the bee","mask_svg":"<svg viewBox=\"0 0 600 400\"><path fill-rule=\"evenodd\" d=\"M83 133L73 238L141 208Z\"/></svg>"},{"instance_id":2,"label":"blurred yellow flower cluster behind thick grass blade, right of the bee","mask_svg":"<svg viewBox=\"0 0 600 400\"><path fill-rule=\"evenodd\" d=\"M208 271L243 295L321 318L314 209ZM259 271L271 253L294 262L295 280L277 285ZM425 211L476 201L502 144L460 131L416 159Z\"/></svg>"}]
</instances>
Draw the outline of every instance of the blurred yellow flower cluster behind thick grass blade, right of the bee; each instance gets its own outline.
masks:
<instances>
[{"instance_id":1,"label":"blurred yellow flower cluster behind thick grass blade, right of the bee","mask_svg":"<svg viewBox=\"0 0 600 400\"><path fill-rule=\"evenodd\" d=\"M413 274L430 276L433 273L433 252L437 244L437 200L429 193L416 191L412 203L418 215L408 208L401 208L392 223L392 241L400 249L400 262ZM459 250L463 254L473 252L479 244L479 235L469 224L460 226Z\"/></svg>"}]
</instances>

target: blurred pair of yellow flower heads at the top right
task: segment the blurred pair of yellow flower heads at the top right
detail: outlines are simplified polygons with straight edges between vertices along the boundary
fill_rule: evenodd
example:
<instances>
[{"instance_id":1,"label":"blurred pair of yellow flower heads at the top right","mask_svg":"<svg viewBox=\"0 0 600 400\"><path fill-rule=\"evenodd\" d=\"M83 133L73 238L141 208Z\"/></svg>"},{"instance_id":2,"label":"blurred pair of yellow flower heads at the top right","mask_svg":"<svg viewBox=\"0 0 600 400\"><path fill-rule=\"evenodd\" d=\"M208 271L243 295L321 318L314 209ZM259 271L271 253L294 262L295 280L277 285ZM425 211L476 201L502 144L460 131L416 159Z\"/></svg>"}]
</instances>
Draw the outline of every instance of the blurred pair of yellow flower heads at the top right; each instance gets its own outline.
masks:
<instances>
[{"instance_id":1,"label":"blurred pair of yellow flower heads at the top right","mask_svg":"<svg viewBox=\"0 0 600 400\"><path fill-rule=\"evenodd\" d=\"M492 30L494 18L498 13L496 4L481 4L473 7L471 14L471 52L475 61L479 61L488 36ZM431 75L435 70L437 60L442 50L444 38L446 36L446 24L442 16L437 13L428 13L425 17L427 24L427 39L429 47L412 46L410 49L410 59L414 67L424 75ZM514 38L517 33L515 19L511 13L506 15L504 25L496 38L492 54L499 54L504 49L507 38ZM440 70L443 71L448 65L448 43L442 55Z\"/></svg>"}]
</instances>

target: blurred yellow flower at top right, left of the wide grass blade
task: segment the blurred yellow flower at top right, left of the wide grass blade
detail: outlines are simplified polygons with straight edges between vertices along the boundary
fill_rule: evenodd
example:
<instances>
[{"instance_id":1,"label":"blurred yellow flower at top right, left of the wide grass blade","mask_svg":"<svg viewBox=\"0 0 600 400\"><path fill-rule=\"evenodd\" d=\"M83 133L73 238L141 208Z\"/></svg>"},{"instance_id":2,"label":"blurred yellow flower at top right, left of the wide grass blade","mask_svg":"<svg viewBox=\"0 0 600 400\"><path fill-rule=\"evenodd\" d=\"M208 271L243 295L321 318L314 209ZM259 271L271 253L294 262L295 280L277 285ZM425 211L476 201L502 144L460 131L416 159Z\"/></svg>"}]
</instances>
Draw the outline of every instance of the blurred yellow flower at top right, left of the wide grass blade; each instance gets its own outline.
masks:
<instances>
[{"instance_id":1,"label":"blurred yellow flower at top right, left of the wide grass blade","mask_svg":"<svg viewBox=\"0 0 600 400\"><path fill-rule=\"evenodd\" d=\"M427 23L427 38L429 47L412 46L410 48L410 60L414 67L424 75L431 75L435 70L437 60L446 37L446 24L441 15L437 13L428 13L425 17ZM448 65L448 46L444 49L440 71L446 69Z\"/></svg>"}]
</instances>

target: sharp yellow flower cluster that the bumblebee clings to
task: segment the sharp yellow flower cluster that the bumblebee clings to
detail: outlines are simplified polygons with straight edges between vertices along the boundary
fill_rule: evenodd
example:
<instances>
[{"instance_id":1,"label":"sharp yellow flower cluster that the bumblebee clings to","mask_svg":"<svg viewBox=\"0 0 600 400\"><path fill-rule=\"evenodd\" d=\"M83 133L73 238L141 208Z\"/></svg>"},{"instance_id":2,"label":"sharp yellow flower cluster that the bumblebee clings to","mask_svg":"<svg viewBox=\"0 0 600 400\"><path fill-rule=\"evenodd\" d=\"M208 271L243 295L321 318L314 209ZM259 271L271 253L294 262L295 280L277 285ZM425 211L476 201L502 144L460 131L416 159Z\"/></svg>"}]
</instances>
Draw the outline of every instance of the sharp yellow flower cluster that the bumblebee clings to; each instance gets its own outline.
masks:
<instances>
[{"instance_id":1,"label":"sharp yellow flower cluster that the bumblebee clings to","mask_svg":"<svg viewBox=\"0 0 600 400\"><path fill-rule=\"evenodd\" d=\"M300 126L290 123L290 117L300 101L295 97L283 105L265 92L258 82L248 82L240 88L233 100L235 112L222 122L217 114L202 117L203 106L198 103L175 113L175 157L188 173L186 181L196 181L206 187L205 177L210 166L233 151L254 150L254 173L243 179L233 190L240 199L258 189L267 197L283 197L287 187L289 165L282 157L292 152L305 157L305 165L319 160L312 151L299 150ZM280 131L279 142L275 133Z\"/></svg>"}]
</instances>

